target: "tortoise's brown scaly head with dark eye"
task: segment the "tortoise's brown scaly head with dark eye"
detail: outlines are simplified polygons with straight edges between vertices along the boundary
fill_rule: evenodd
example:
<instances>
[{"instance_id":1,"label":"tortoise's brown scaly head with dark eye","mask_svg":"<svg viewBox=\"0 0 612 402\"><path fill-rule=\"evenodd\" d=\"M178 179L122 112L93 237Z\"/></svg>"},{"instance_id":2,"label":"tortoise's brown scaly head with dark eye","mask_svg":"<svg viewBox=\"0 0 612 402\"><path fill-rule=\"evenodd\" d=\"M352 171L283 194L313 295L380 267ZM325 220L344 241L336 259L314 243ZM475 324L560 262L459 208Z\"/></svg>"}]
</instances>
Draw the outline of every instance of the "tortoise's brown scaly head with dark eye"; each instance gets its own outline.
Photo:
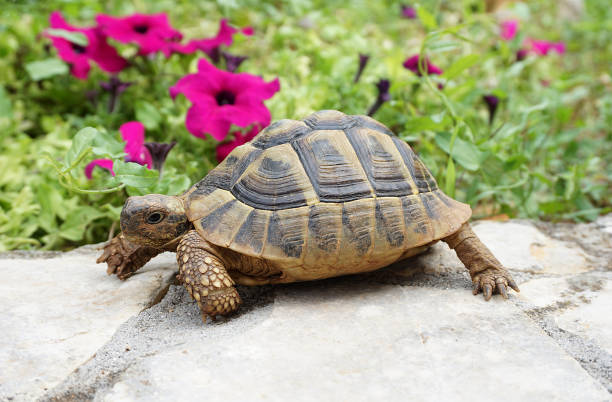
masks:
<instances>
[{"instance_id":1,"label":"tortoise's brown scaly head with dark eye","mask_svg":"<svg viewBox=\"0 0 612 402\"><path fill-rule=\"evenodd\" d=\"M132 243L162 247L191 227L178 197L149 194L129 197L121 210L121 231Z\"/></svg>"}]
</instances>

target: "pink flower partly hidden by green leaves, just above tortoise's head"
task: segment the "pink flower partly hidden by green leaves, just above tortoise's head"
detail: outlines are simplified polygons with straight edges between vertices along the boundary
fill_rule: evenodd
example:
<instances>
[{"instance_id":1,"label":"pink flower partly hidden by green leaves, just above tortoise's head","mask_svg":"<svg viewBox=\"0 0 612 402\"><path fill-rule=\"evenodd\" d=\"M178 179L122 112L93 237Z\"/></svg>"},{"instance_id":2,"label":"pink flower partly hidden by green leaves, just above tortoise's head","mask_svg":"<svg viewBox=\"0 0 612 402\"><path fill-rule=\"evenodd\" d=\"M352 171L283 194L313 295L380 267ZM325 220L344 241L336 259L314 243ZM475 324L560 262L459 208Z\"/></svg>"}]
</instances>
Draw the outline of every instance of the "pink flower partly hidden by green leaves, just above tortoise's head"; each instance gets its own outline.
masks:
<instances>
[{"instance_id":1,"label":"pink flower partly hidden by green leaves, just above tortoise's head","mask_svg":"<svg viewBox=\"0 0 612 402\"><path fill-rule=\"evenodd\" d=\"M121 132L121 138L125 141L125 147L123 148L127 154L125 156L125 161L145 165L147 168L151 169L153 166L153 159L151 158L151 153L144 145L144 125L139 121L130 121L123 123L121 127L119 127L119 131ZM113 161L111 159L95 159L85 166L85 176L88 179L91 179L92 171L96 166L107 169L113 176L115 175L113 171Z\"/></svg>"}]
</instances>

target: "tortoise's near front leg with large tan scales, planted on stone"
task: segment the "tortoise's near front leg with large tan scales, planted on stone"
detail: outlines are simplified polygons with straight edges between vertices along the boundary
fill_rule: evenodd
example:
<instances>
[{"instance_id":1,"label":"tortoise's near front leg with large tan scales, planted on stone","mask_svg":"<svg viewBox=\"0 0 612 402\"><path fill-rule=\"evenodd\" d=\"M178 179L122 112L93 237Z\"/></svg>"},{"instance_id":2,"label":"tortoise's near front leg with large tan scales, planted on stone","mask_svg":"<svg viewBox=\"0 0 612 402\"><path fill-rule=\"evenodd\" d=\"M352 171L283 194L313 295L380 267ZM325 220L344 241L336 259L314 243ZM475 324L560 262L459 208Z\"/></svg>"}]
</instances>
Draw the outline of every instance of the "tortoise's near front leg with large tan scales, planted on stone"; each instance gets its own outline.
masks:
<instances>
[{"instance_id":1,"label":"tortoise's near front leg with large tan scales, planted on stone","mask_svg":"<svg viewBox=\"0 0 612 402\"><path fill-rule=\"evenodd\" d=\"M198 232L188 232L178 245L176 259L178 279L197 302L202 320L217 315L228 315L240 306L241 300L234 281L224 263Z\"/></svg>"}]
</instances>

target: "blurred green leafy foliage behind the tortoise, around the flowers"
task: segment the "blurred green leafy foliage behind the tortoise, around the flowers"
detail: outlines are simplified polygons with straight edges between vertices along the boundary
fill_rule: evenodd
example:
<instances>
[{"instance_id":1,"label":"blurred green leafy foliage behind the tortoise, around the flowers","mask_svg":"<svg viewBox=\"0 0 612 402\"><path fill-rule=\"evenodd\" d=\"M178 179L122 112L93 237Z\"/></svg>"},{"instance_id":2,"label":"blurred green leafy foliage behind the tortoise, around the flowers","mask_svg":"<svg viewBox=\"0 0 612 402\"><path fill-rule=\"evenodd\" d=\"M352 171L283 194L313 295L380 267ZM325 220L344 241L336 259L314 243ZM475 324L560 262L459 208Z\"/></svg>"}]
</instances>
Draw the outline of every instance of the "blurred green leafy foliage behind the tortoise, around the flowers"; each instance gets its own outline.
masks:
<instances>
[{"instance_id":1,"label":"blurred green leafy foliage behind the tortoise, around the flowers","mask_svg":"<svg viewBox=\"0 0 612 402\"><path fill-rule=\"evenodd\" d=\"M108 76L93 68L87 80L74 79L40 36L56 9L82 26L100 12L167 12L189 37L214 34L222 17L251 25L255 34L236 36L229 51L249 57L239 71L267 81L279 77L280 92L266 102L273 120L320 109L364 114L376 100L375 83L385 78L391 100L374 117L409 141L440 186L471 204L476 217L590 220L610 211L608 2L587 0L581 15L566 17L561 2L519 3L510 9L521 20L512 41L499 38L498 21L482 3L423 1L414 20L400 18L399 3L362 1L162 0L146 3L147 9L139 2L91 0L5 5L0 251L105 240L128 195L179 194L216 164L216 141L185 129L189 102L168 95L179 78L196 71L202 54L142 57L114 42L132 62L119 78L132 85L110 107L112 94L100 87ZM567 53L517 62L528 36L562 40ZM370 61L353 83L359 53ZM419 77L404 69L402 62L414 54L444 73ZM486 94L500 100L492 124ZM147 141L177 141L163 175L123 161L117 129L131 120L147 127ZM83 167L95 158L112 159L116 175L96 168L88 181Z\"/></svg>"}]
</instances>

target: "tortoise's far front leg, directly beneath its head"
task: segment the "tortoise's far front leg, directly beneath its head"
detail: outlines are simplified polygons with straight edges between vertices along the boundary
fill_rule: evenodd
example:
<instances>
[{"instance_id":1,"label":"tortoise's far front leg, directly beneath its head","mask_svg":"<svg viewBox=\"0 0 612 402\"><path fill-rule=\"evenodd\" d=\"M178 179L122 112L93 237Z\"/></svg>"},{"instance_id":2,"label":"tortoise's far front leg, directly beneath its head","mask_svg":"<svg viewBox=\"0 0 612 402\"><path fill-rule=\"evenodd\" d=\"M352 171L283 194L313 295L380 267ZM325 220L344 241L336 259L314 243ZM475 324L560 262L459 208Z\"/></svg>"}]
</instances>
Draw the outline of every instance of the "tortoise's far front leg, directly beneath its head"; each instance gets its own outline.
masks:
<instances>
[{"instance_id":1,"label":"tortoise's far front leg, directly beneath its head","mask_svg":"<svg viewBox=\"0 0 612 402\"><path fill-rule=\"evenodd\" d=\"M108 275L116 274L119 279L125 280L151 258L164 251L169 250L139 246L129 242L122 233L119 233L104 246L104 251L96 262L98 264L105 262Z\"/></svg>"}]
</instances>

